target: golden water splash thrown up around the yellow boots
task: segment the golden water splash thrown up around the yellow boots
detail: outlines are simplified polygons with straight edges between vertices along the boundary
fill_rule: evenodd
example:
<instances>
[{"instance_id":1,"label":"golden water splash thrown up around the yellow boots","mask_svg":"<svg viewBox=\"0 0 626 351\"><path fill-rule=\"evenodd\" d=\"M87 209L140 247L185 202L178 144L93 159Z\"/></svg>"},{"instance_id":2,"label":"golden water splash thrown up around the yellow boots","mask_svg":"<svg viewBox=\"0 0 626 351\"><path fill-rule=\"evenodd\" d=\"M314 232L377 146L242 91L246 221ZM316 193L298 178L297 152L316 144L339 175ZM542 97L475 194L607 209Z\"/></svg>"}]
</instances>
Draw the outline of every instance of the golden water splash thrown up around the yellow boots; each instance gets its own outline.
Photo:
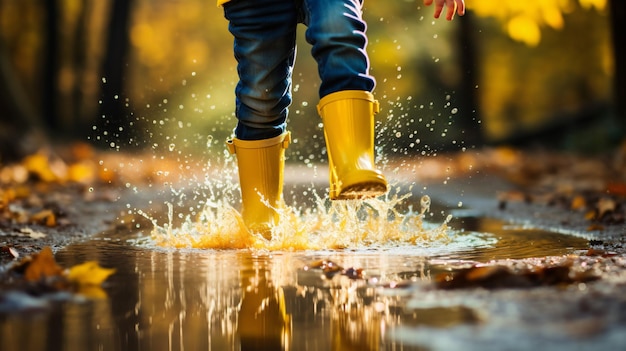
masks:
<instances>
[{"instance_id":1,"label":"golden water splash thrown up around the yellow boots","mask_svg":"<svg viewBox=\"0 0 626 351\"><path fill-rule=\"evenodd\" d=\"M423 196L420 211L411 207L407 213L398 210L410 195L387 195L384 198L352 201L330 201L314 190L311 208L284 206L276 209L279 222L271 228L271 239L250 232L241 214L229 204L228 196L212 196L199 215L187 217L179 227L173 226L174 207L168 204L168 222L160 225L145 213L153 224L152 239L157 245L175 248L320 250L371 249L403 245L429 246L446 243L448 222L432 226L424 222L430 198Z\"/></svg>"}]
</instances>

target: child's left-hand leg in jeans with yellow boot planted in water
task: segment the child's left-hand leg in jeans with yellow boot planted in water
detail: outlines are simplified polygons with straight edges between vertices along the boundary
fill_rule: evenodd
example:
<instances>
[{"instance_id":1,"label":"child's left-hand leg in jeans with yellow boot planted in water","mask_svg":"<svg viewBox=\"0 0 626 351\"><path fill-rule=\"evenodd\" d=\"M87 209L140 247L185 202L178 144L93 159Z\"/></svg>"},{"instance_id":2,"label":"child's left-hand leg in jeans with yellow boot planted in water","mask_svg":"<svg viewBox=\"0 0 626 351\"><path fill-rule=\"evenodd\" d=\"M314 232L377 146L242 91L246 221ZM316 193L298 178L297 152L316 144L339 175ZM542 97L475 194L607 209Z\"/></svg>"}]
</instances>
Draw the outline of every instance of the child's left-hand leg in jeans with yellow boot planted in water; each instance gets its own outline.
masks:
<instances>
[{"instance_id":1,"label":"child's left-hand leg in jeans with yellow boot planted in water","mask_svg":"<svg viewBox=\"0 0 626 351\"><path fill-rule=\"evenodd\" d=\"M249 230L271 237L283 204L285 131L291 103L297 13L293 0L233 0L224 5L235 37L239 83L235 136L242 217Z\"/></svg>"}]
</instances>

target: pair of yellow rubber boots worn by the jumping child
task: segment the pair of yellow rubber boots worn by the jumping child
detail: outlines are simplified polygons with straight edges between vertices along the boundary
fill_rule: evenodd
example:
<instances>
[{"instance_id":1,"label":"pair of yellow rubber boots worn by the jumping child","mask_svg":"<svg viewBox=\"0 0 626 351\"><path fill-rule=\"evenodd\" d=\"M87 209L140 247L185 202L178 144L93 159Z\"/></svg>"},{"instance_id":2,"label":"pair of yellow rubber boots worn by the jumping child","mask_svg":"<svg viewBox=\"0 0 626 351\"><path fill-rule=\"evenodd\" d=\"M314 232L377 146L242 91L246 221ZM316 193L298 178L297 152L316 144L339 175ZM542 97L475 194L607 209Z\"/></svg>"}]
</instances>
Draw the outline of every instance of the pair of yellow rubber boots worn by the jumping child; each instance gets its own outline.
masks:
<instances>
[{"instance_id":1,"label":"pair of yellow rubber boots worn by the jumping child","mask_svg":"<svg viewBox=\"0 0 626 351\"><path fill-rule=\"evenodd\" d=\"M367 91L346 90L323 97L317 110L324 123L330 169L330 199L364 199L387 192L374 165L374 115L378 101ZM227 142L237 155L242 217L249 230L268 236L283 203L285 149L291 134L264 140Z\"/></svg>"}]
</instances>

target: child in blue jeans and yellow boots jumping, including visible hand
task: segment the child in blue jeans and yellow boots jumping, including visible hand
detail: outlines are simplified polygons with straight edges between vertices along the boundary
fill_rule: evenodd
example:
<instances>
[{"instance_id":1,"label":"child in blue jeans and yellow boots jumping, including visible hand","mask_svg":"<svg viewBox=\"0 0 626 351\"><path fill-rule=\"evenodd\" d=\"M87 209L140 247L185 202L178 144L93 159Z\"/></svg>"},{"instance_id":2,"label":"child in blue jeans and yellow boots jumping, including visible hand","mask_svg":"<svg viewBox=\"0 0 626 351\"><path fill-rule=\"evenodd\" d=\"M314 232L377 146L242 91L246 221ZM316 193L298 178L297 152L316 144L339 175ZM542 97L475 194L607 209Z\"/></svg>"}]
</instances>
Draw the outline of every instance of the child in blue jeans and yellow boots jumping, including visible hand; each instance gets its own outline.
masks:
<instances>
[{"instance_id":1,"label":"child in blue jeans and yellow boots jumping, including visible hand","mask_svg":"<svg viewBox=\"0 0 626 351\"><path fill-rule=\"evenodd\" d=\"M435 18L463 15L464 0L435 3ZM249 230L268 236L281 206L285 149L291 135L286 118L296 54L296 25L307 26L306 40L321 78L318 112L330 168L330 199L363 199L387 191L374 165L375 80L365 51L363 0L217 0L234 36L239 83L235 138L242 216Z\"/></svg>"}]
</instances>

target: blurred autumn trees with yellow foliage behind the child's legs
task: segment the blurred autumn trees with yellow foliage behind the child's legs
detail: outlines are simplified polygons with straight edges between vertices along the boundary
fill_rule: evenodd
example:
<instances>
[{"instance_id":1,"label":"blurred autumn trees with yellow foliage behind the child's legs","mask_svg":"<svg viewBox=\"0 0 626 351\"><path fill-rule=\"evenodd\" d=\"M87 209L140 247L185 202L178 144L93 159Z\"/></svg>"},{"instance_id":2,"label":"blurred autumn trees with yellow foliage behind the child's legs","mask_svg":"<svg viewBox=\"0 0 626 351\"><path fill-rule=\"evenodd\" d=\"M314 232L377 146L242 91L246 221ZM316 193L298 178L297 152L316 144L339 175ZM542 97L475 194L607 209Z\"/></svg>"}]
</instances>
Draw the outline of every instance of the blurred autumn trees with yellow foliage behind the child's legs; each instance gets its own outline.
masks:
<instances>
[{"instance_id":1,"label":"blurred autumn trees with yellow foliage behind the child's legs","mask_svg":"<svg viewBox=\"0 0 626 351\"><path fill-rule=\"evenodd\" d=\"M502 143L614 146L623 110L611 5L468 0L467 16L447 23L421 1L366 1L379 144L401 155ZM47 142L41 131L112 150L202 153L235 124L232 38L210 1L2 0L0 28L5 159ZM303 32L292 161L323 148L319 78Z\"/></svg>"}]
</instances>

